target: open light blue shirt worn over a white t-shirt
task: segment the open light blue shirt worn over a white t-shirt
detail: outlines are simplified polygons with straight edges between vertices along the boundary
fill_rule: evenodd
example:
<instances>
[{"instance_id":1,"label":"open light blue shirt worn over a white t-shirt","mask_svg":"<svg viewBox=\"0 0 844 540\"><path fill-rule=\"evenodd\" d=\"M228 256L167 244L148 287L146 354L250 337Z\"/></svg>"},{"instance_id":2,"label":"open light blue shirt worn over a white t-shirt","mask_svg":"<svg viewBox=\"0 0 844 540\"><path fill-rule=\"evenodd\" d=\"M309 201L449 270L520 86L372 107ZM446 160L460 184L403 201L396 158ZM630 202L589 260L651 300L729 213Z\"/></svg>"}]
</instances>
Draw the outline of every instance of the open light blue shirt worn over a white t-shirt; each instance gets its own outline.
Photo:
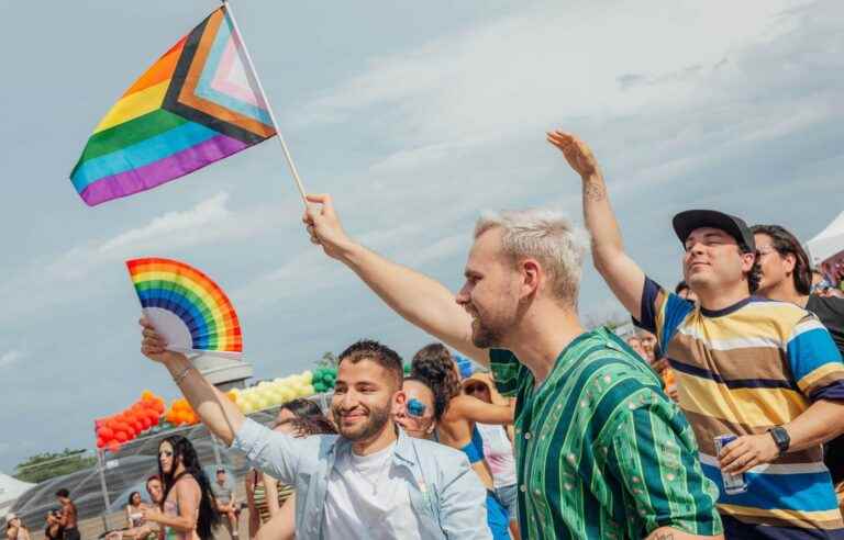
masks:
<instances>
[{"instance_id":1,"label":"open light blue shirt worn over a white t-shirt","mask_svg":"<svg viewBox=\"0 0 844 540\"><path fill-rule=\"evenodd\" d=\"M397 429L392 462L408 472L420 536L425 540L490 539L486 490L466 457ZM336 435L298 439L246 419L232 448L244 452L255 468L296 487L296 538L322 539L329 473L341 452L352 451L352 443Z\"/></svg>"}]
</instances>

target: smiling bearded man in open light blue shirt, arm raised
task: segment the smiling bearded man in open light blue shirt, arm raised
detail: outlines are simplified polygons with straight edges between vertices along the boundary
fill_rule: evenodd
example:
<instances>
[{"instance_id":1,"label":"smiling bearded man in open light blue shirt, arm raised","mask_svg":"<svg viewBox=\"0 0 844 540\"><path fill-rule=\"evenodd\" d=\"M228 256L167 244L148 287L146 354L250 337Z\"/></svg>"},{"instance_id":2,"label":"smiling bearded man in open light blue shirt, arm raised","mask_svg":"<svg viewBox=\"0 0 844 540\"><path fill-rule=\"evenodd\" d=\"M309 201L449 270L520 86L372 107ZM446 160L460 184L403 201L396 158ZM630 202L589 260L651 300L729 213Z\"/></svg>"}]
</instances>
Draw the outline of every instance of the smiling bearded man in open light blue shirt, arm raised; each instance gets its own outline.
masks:
<instances>
[{"instance_id":1,"label":"smiling bearded man in open light blue shirt, arm raised","mask_svg":"<svg viewBox=\"0 0 844 540\"><path fill-rule=\"evenodd\" d=\"M142 351L164 363L202 423L247 461L296 488L302 539L489 539L486 491L465 455L412 439L402 409L402 361L377 341L340 355L331 412L340 436L297 439L251 420L188 359L144 326Z\"/></svg>"}]
</instances>

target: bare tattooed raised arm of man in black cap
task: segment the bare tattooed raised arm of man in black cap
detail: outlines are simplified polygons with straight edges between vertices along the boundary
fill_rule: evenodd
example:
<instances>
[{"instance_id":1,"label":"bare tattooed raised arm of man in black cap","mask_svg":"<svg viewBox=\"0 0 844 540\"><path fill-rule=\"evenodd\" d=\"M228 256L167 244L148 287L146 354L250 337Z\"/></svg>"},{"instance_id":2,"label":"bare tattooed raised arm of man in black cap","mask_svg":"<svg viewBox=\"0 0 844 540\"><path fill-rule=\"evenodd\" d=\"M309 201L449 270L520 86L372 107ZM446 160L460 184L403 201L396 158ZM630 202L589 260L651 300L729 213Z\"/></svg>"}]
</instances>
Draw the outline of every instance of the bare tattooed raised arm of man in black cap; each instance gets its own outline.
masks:
<instances>
[{"instance_id":1,"label":"bare tattooed raised arm of man in black cap","mask_svg":"<svg viewBox=\"0 0 844 540\"><path fill-rule=\"evenodd\" d=\"M586 143L569 133L548 133L548 142L559 148L582 180L584 221L592 238L595 267L619 302L631 315L641 319L645 273L624 251L621 229L610 205L598 160Z\"/></svg>"}]
</instances>

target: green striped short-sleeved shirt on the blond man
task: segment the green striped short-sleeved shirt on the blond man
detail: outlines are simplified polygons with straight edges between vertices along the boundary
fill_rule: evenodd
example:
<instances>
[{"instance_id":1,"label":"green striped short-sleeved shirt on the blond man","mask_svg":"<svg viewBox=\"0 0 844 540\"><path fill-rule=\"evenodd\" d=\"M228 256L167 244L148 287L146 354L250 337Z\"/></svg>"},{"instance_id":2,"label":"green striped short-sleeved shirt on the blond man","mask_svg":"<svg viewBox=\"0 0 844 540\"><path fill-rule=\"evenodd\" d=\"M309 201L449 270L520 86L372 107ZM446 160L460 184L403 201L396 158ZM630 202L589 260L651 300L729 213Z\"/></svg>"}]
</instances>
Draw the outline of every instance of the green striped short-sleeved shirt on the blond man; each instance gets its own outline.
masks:
<instances>
[{"instance_id":1,"label":"green striped short-sleeved shirt on the blond man","mask_svg":"<svg viewBox=\"0 0 844 540\"><path fill-rule=\"evenodd\" d=\"M512 352L490 351L517 397L513 442L523 538L644 538L658 527L721 533L718 488L659 379L607 329L579 336L535 387Z\"/></svg>"}]
</instances>

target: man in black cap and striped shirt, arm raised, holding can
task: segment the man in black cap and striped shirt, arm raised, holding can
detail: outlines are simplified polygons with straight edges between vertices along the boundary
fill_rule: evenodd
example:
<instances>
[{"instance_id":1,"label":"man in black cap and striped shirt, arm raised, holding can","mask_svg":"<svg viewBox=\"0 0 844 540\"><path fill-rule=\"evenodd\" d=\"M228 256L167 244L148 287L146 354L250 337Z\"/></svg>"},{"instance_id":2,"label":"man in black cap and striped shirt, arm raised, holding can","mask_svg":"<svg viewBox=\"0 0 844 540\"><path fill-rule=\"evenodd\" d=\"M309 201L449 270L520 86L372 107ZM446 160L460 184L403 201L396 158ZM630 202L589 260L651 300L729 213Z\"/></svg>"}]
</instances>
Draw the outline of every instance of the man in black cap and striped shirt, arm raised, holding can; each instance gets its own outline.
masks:
<instances>
[{"instance_id":1,"label":"man in black cap and striped shirt, arm raised, holding can","mask_svg":"<svg viewBox=\"0 0 844 540\"><path fill-rule=\"evenodd\" d=\"M674 217L698 303L659 286L624 250L589 147L563 132L548 142L582 180L596 268L674 368L678 405L720 492L725 537L844 538L820 445L844 431L844 362L830 334L800 306L752 296L754 236L722 212ZM733 440L720 449L724 435Z\"/></svg>"}]
</instances>

